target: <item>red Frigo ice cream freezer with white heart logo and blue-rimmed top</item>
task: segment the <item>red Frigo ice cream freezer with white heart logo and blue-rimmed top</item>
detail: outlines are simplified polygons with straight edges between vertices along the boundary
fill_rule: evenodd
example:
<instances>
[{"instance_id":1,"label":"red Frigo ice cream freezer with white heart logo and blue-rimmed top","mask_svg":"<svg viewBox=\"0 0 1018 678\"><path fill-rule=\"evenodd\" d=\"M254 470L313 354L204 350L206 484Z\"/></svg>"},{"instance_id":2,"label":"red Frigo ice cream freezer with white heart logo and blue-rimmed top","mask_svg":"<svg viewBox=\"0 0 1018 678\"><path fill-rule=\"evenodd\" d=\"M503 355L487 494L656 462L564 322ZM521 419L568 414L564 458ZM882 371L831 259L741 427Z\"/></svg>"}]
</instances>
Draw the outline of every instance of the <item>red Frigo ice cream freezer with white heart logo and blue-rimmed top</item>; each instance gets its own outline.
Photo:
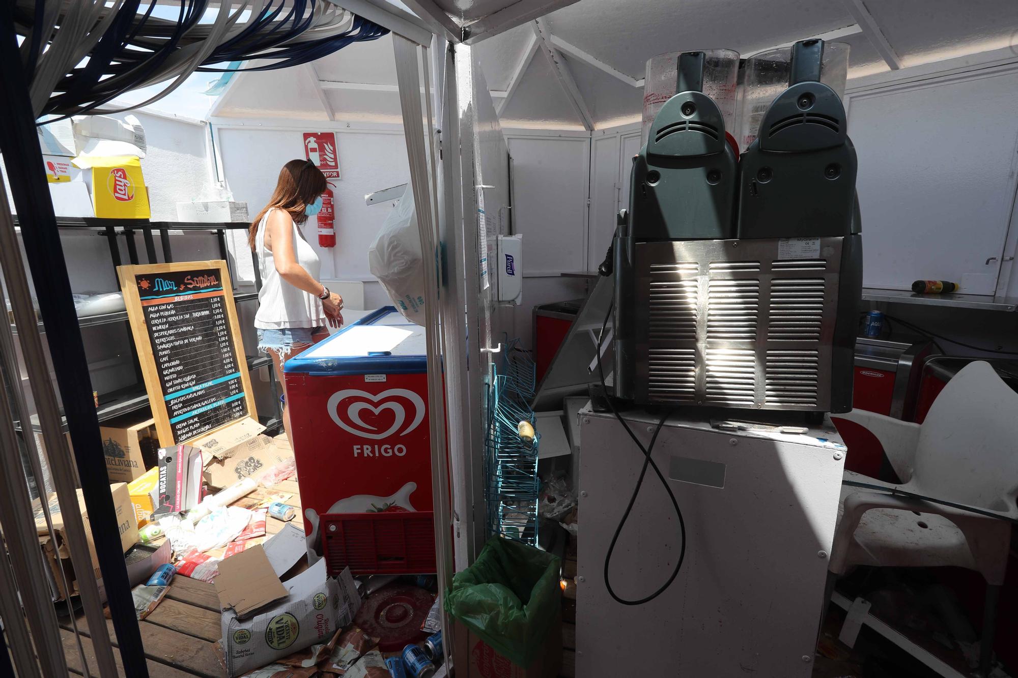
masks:
<instances>
[{"instance_id":1,"label":"red Frigo ice cream freezer with white heart logo and blue-rimmed top","mask_svg":"<svg viewBox=\"0 0 1018 678\"><path fill-rule=\"evenodd\" d=\"M286 361L308 558L435 572L425 329L392 306Z\"/></svg>"}]
</instances>

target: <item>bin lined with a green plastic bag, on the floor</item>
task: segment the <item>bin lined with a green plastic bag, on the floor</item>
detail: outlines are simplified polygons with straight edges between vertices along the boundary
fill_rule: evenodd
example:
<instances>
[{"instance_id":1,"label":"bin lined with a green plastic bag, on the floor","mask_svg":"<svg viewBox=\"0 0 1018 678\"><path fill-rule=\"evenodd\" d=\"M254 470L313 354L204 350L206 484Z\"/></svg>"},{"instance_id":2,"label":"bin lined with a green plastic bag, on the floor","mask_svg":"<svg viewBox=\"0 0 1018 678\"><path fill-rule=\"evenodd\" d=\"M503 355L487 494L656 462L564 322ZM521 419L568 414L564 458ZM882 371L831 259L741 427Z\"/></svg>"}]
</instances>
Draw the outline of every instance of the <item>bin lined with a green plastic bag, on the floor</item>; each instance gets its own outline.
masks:
<instances>
[{"instance_id":1,"label":"bin lined with a green plastic bag, on the floor","mask_svg":"<svg viewBox=\"0 0 1018 678\"><path fill-rule=\"evenodd\" d=\"M457 675L543 678L562 661L561 561L493 536L446 591ZM462 672L462 673L460 673Z\"/></svg>"}]
</instances>

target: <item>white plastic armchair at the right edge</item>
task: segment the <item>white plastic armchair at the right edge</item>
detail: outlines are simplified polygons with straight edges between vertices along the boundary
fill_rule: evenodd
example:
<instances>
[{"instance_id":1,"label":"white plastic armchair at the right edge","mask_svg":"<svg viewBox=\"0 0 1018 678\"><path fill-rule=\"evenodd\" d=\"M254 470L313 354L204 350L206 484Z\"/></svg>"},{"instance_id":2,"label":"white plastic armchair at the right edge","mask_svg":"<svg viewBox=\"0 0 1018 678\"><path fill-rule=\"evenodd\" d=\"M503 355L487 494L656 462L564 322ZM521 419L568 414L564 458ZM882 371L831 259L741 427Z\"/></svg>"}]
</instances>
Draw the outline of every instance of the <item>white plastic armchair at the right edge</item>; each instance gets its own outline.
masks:
<instances>
[{"instance_id":1,"label":"white plastic armchair at the right edge","mask_svg":"<svg viewBox=\"0 0 1018 678\"><path fill-rule=\"evenodd\" d=\"M880 440L904 482L897 486L901 490L1018 519L1018 393L988 363L975 361L962 369L934 401L921 426L860 409L839 416ZM845 479L894 487L851 471L845 472ZM985 675L1011 523L850 486L842 489L841 499L829 587L853 565L977 570L987 584L979 657Z\"/></svg>"}]
</instances>

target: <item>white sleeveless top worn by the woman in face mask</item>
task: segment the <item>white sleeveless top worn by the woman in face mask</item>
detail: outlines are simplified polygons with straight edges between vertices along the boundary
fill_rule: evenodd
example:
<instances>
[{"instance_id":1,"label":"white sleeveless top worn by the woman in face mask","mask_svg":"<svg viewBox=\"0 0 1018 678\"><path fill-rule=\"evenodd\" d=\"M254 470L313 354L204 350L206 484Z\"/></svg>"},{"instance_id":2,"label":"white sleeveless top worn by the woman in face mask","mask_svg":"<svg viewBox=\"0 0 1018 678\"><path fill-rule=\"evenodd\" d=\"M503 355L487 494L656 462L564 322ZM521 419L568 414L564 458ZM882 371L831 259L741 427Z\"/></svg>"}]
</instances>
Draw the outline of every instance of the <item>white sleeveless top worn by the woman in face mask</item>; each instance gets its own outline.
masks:
<instances>
[{"instance_id":1,"label":"white sleeveless top worn by the woman in face mask","mask_svg":"<svg viewBox=\"0 0 1018 678\"><path fill-rule=\"evenodd\" d=\"M265 213L254 234L259 271L262 273L262 290L258 294L259 308L258 315L254 316L254 327L263 330L324 327L327 319L321 299L283 280L276 271L276 261L272 250L265 246L265 227L273 210ZM293 219L290 219L290 226L297 264L302 266L310 277L318 280L322 269L318 253L297 230Z\"/></svg>"}]
</instances>

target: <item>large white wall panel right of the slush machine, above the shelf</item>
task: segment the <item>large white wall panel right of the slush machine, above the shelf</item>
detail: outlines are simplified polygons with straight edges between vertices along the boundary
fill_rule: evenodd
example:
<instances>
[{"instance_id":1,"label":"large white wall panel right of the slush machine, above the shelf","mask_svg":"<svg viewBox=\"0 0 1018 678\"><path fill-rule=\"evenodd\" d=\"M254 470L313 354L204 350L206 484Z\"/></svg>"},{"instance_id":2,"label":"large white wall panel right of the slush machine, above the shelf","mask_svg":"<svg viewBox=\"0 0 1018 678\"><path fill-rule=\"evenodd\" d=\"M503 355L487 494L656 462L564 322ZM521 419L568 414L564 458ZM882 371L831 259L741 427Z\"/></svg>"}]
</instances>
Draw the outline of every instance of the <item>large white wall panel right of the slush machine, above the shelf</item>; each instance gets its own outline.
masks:
<instances>
[{"instance_id":1,"label":"large white wall panel right of the slush machine, above the shelf","mask_svg":"<svg viewBox=\"0 0 1018 678\"><path fill-rule=\"evenodd\" d=\"M936 278L994 293L1018 173L1015 110L1015 70L851 97L864 286Z\"/></svg>"}]
</instances>

